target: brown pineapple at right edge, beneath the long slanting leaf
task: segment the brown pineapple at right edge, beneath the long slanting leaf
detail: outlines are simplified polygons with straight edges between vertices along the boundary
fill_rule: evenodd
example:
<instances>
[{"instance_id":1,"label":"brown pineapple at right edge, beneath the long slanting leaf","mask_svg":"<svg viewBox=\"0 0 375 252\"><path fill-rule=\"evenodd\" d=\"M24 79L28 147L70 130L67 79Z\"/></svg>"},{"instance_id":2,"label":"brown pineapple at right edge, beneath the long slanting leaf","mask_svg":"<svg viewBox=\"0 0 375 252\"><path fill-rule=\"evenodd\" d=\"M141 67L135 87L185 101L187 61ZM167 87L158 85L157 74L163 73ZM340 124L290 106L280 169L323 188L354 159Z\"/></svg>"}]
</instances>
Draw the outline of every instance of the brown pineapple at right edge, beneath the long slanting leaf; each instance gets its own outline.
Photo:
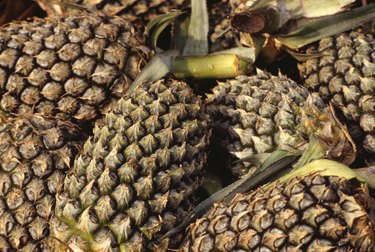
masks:
<instances>
[{"instance_id":1,"label":"brown pineapple at right edge, beneath the long slanting leaf","mask_svg":"<svg viewBox=\"0 0 375 252\"><path fill-rule=\"evenodd\" d=\"M348 124L361 129L357 144L366 150L368 163L375 164L374 38L361 30L351 31L324 38L306 53L321 56L299 64L304 85L331 102Z\"/></svg>"}]
</instances>

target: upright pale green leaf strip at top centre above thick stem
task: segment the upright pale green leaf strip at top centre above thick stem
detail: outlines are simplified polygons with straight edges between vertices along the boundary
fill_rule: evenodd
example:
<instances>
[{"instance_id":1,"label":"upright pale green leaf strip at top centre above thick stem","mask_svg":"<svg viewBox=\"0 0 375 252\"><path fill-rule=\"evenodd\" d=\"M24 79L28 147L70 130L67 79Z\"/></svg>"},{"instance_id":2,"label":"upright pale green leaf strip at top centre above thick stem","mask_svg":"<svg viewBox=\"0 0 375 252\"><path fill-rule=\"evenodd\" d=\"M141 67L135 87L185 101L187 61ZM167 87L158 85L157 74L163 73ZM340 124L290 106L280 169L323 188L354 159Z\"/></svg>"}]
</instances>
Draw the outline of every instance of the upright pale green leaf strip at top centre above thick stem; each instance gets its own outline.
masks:
<instances>
[{"instance_id":1,"label":"upright pale green leaf strip at top centre above thick stem","mask_svg":"<svg viewBox=\"0 0 375 252\"><path fill-rule=\"evenodd\" d=\"M183 50L183 55L208 54L208 29L207 1L192 0L189 36Z\"/></svg>"}]
</instances>

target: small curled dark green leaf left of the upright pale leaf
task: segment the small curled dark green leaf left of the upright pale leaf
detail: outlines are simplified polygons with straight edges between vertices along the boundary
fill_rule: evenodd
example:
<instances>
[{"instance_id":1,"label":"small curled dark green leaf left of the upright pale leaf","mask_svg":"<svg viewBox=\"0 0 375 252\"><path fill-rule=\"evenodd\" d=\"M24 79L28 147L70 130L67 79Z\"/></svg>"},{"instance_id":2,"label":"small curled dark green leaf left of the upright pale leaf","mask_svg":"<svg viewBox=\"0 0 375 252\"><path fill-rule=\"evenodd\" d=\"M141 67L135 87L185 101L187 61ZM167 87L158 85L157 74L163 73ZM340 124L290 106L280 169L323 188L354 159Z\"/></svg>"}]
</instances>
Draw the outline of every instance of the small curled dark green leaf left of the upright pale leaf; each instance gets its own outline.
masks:
<instances>
[{"instance_id":1,"label":"small curled dark green leaf left of the upright pale leaf","mask_svg":"<svg viewBox=\"0 0 375 252\"><path fill-rule=\"evenodd\" d=\"M164 29L172 24L181 14L183 14L181 11L171 11L155 17L147 24L147 36L152 49L156 49L159 36Z\"/></svg>"}]
</instances>

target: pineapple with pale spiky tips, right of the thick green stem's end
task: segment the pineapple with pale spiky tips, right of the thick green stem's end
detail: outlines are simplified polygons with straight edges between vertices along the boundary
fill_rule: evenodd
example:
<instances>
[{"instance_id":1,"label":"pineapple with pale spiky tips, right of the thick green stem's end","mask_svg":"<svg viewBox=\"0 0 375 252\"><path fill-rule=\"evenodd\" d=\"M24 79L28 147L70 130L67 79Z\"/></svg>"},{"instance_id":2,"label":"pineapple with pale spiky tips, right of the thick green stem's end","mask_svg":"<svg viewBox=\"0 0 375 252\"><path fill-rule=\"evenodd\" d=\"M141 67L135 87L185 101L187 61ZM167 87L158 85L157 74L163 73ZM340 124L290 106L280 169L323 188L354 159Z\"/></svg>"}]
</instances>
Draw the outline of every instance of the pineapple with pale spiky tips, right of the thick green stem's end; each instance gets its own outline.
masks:
<instances>
[{"instance_id":1,"label":"pineapple with pale spiky tips, right of the thick green stem's end","mask_svg":"<svg viewBox=\"0 0 375 252\"><path fill-rule=\"evenodd\" d=\"M256 75L219 83L206 103L214 146L224 152L219 163L235 177L253 173L262 162L242 159L285 146L303 149L312 135L329 145L331 158L348 164L354 159L351 139L330 108L285 76L258 69Z\"/></svg>"}]
</instances>

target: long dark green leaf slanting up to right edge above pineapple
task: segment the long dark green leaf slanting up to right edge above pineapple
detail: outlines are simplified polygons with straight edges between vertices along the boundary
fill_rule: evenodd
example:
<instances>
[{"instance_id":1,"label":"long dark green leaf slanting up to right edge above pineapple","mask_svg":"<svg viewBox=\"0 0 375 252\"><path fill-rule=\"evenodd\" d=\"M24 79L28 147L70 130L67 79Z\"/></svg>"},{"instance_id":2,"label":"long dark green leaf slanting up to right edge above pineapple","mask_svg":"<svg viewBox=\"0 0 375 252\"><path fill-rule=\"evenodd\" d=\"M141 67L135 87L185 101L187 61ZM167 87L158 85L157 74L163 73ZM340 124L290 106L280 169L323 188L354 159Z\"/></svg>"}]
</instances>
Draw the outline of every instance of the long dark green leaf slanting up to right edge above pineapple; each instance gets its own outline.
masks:
<instances>
[{"instance_id":1,"label":"long dark green leaf slanting up to right edge above pineapple","mask_svg":"<svg viewBox=\"0 0 375 252\"><path fill-rule=\"evenodd\" d=\"M333 16L318 18L304 23L288 34L279 34L275 38L290 49L299 49L322 38L333 36L353 29L375 18L375 4L353 9Z\"/></svg>"}]
</instances>

